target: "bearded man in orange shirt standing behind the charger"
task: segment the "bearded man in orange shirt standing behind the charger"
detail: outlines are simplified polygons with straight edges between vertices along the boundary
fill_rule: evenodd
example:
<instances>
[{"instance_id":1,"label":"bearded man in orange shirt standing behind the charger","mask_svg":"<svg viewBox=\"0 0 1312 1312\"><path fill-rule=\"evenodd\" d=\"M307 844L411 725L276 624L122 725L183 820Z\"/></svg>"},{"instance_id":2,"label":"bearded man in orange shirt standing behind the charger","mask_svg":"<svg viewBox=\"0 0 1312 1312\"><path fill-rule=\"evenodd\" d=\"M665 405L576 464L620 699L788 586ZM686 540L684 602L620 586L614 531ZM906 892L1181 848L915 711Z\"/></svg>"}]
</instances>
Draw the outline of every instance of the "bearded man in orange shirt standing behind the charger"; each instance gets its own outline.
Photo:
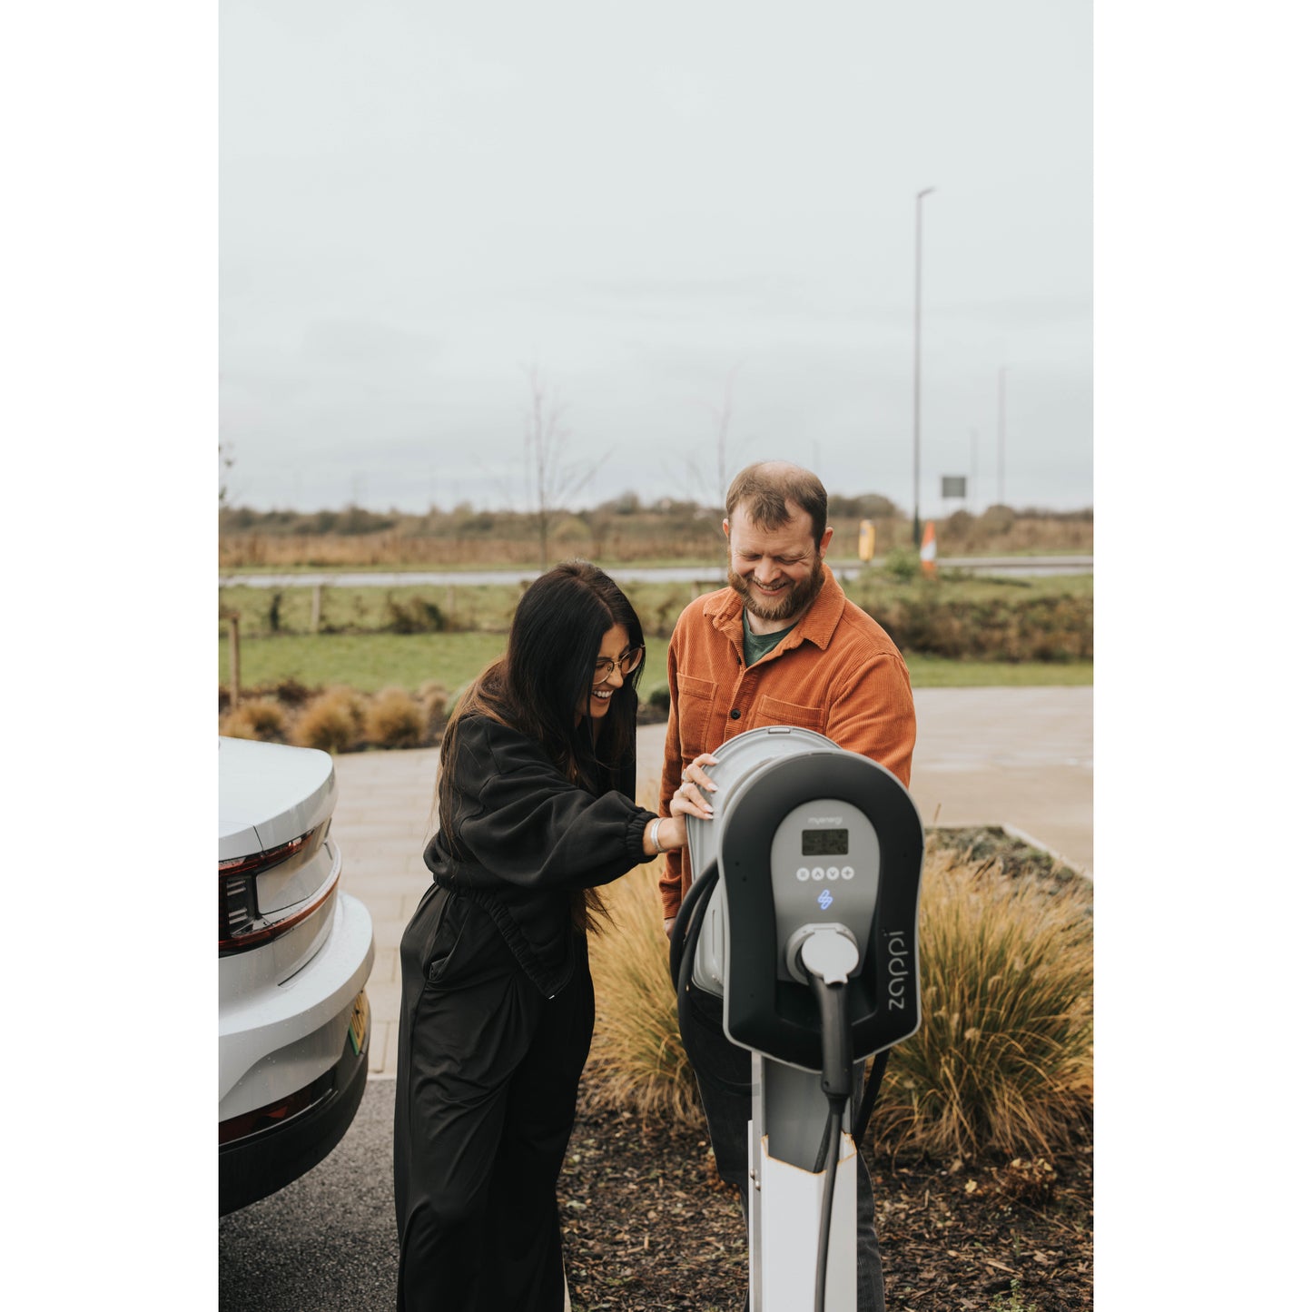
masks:
<instances>
[{"instance_id":1,"label":"bearded man in orange shirt standing behind the charger","mask_svg":"<svg viewBox=\"0 0 1312 1312\"><path fill-rule=\"evenodd\" d=\"M669 642L661 815L677 791L706 789L714 804L710 775L694 757L766 724L815 729L911 783L916 710L907 664L824 563L833 538L828 508L820 480L782 461L750 464L729 487L729 586L687 606ZM669 853L660 882L666 934L690 883L685 853ZM684 1044L716 1169L737 1186L745 1214L752 1059L724 1036L720 998L694 985L691 1004ZM859 1153L857 1307L884 1308L874 1194Z\"/></svg>"}]
</instances>

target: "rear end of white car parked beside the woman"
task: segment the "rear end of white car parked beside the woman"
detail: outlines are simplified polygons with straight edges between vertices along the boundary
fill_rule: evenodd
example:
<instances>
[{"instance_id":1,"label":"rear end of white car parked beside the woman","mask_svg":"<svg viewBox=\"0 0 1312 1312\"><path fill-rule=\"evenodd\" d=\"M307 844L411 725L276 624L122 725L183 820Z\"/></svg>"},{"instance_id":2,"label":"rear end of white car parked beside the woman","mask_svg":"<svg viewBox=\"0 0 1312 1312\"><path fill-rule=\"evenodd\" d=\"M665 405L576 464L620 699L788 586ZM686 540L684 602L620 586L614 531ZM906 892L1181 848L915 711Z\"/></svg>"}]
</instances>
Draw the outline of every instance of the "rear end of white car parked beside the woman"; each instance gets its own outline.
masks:
<instances>
[{"instance_id":1,"label":"rear end of white car parked beside the woman","mask_svg":"<svg viewBox=\"0 0 1312 1312\"><path fill-rule=\"evenodd\" d=\"M338 892L332 757L219 739L219 1214L350 1126L369 1068L374 926Z\"/></svg>"}]
</instances>

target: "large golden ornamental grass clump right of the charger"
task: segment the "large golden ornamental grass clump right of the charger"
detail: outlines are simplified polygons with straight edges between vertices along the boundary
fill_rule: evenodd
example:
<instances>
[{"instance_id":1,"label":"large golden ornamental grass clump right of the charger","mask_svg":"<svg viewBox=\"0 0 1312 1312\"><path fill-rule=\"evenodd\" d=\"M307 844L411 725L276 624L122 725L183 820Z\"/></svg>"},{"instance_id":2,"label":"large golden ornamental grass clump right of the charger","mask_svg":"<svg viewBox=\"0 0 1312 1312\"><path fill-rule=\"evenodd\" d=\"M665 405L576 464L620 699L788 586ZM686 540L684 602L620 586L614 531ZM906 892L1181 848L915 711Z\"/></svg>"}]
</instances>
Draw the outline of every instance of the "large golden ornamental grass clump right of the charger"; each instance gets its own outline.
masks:
<instances>
[{"instance_id":1,"label":"large golden ornamental grass clump right of the charger","mask_svg":"<svg viewBox=\"0 0 1312 1312\"><path fill-rule=\"evenodd\" d=\"M932 851L920 913L921 1027L893 1048L875 1143L934 1157L1033 1157L1093 1115L1092 892Z\"/></svg>"}]
</instances>

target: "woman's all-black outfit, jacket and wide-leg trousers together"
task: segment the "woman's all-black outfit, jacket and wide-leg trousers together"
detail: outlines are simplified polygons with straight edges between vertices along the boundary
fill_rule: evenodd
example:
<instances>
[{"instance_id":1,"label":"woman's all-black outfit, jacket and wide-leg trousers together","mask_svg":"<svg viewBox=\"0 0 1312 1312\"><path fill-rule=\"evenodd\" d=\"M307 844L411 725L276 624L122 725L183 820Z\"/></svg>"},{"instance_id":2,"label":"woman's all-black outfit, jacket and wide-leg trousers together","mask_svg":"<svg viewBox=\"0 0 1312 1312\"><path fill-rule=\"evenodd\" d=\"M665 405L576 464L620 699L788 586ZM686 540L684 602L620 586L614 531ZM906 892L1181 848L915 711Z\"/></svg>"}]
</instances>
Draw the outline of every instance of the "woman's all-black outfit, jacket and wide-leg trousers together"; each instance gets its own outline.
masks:
<instances>
[{"instance_id":1,"label":"woman's all-black outfit, jacket and wide-leg trousers together","mask_svg":"<svg viewBox=\"0 0 1312 1312\"><path fill-rule=\"evenodd\" d=\"M454 754L454 813L400 946L396 1307L560 1312L555 1187L593 1026L571 892L649 859L655 815L631 764L594 796L483 716Z\"/></svg>"}]
</instances>

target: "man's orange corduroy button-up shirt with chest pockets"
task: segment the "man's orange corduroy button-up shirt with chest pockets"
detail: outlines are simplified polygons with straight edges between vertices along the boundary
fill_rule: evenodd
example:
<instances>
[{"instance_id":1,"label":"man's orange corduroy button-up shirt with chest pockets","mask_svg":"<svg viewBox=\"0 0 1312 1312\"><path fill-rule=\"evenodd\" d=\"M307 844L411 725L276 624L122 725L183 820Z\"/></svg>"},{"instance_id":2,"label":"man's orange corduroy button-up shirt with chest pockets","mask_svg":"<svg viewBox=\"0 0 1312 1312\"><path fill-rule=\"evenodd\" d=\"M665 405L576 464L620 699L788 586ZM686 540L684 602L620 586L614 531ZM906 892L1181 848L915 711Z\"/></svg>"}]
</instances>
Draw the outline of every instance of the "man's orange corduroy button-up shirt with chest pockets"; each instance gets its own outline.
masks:
<instances>
[{"instance_id":1,"label":"man's orange corduroy button-up shirt with chest pockets","mask_svg":"<svg viewBox=\"0 0 1312 1312\"><path fill-rule=\"evenodd\" d=\"M743 598L732 588L698 597L669 640L669 726L660 813L693 757L766 724L791 724L859 752L911 786L916 707L907 663L884 630L848 601L828 565L802 619L754 665L743 653ZM684 850L665 855L665 917L690 886Z\"/></svg>"}]
</instances>

